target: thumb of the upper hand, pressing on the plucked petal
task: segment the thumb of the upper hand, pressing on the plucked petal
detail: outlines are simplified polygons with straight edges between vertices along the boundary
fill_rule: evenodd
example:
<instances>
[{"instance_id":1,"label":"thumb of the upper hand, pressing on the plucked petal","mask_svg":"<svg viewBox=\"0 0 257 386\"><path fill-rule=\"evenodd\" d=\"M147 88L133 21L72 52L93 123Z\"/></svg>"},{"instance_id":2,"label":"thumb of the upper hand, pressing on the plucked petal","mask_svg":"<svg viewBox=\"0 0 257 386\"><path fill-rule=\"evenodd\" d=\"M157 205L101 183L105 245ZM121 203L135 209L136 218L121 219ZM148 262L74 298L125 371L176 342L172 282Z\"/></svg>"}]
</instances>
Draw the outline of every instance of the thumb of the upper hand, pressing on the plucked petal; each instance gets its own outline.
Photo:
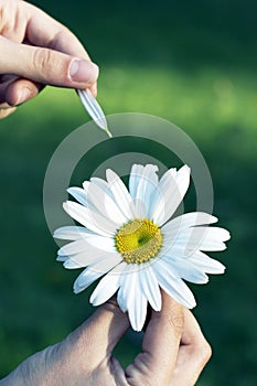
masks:
<instances>
[{"instance_id":1,"label":"thumb of the upper hand, pressing on the plucked petal","mask_svg":"<svg viewBox=\"0 0 257 386\"><path fill-rule=\"evenodd\" d=\"M0 36L0 74L71 88L92 86L98 76L96 64L58 51L19 44L4 36Z\"/></svg>"}]
</instances>

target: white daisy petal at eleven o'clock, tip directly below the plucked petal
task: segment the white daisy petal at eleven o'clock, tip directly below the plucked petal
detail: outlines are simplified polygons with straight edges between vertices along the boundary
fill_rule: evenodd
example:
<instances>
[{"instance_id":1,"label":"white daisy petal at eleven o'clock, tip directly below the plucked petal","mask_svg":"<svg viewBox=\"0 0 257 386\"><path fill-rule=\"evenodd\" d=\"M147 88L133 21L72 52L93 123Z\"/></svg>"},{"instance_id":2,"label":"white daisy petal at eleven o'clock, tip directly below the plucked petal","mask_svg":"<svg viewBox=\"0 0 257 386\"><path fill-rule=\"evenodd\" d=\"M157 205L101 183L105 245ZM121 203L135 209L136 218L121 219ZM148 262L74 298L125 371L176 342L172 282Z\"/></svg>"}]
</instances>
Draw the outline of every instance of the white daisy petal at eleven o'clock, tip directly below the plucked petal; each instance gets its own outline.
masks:
<instances>
[{"instance_id":1,"label":"white daisy petal at eleven o'clock, tip directly below the plucked petal","mask_svg":"<svg viewBox=\"0 0 257 386\"><path fill-rule=\"evenodd\" d=\"M126 218L133 218L133 201L121 179L110 169L106 171L106 178L108 181L109 190Z\"/></svg>"}]
</instances>

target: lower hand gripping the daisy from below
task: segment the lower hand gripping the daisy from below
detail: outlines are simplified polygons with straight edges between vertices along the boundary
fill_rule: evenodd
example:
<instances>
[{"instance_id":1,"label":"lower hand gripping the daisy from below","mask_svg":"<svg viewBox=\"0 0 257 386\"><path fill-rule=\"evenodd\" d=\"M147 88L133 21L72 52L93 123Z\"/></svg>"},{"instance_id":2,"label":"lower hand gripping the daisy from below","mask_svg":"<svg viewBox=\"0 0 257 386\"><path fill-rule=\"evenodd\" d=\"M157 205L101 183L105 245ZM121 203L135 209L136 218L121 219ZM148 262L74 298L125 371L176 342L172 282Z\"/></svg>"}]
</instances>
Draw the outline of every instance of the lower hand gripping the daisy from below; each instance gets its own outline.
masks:
<instances>
[{"instance_id":1,"label":"lower hand gripping the daisy from below","mask_svg":"<svg viewBox=\"0 0 257 386\"><path fill-rule=\"evenodd\" d=\"M193 386L211 356L193 314L162 292L142 351L124 369L113 350L129 328L115 299L101 305L64 341L34 354L0 386Z\"/></svg>"}]
</instances>

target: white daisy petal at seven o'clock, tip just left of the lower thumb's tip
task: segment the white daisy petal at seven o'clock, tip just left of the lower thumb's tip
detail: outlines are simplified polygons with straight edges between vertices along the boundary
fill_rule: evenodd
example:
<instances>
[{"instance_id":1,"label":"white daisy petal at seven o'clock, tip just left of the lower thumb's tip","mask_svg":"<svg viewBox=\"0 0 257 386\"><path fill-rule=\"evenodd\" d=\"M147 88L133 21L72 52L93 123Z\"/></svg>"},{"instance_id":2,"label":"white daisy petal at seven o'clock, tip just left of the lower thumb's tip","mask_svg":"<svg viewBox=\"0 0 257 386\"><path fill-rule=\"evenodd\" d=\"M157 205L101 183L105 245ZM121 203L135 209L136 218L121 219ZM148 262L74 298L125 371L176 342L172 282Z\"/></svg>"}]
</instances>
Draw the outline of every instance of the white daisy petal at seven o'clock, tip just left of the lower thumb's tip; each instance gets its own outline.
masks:
<instances>
[{"instance_id":1,"label":"white daisy petal at seven o'clock, tip just left of the lower thumb's tip","mask_svg":"<svg viewBox=\"0 0 257 386\"><path fill-rule=\"evenodd\" d=\"M122 270L126 267L126 262L120 262L117 267L111 269L97 285L96 289L90 296L90 303L93 305L99 305L110 299L119 288L119 278L122 275Z\"/></svg>"}]
</instances>

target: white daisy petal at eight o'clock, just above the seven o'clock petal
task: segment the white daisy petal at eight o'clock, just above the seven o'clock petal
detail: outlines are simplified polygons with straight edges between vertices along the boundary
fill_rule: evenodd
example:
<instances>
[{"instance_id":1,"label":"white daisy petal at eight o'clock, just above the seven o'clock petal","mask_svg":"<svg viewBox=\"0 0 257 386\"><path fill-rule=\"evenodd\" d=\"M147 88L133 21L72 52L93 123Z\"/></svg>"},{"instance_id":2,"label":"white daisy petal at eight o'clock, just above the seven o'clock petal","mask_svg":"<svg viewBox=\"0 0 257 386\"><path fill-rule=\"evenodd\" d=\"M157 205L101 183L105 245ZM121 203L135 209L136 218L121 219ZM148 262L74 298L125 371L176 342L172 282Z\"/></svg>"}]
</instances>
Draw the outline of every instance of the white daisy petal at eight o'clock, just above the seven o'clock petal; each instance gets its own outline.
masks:
<instances>
[{"instance_id":1,"label":"white daisy petal at eight o'clock, just above the seven o'clock petal","mask_svg":"<svg viewBox=\"0 0 257 386\"><path fill-rule=\"evenodd\" d=\"M108 272L121 261L121 257L117 254L111 256L104 256L103 259L96 264L84 269L74 282L74 292L78 293L90 286L96 279Z\"/></svg>"}]
</instances>

